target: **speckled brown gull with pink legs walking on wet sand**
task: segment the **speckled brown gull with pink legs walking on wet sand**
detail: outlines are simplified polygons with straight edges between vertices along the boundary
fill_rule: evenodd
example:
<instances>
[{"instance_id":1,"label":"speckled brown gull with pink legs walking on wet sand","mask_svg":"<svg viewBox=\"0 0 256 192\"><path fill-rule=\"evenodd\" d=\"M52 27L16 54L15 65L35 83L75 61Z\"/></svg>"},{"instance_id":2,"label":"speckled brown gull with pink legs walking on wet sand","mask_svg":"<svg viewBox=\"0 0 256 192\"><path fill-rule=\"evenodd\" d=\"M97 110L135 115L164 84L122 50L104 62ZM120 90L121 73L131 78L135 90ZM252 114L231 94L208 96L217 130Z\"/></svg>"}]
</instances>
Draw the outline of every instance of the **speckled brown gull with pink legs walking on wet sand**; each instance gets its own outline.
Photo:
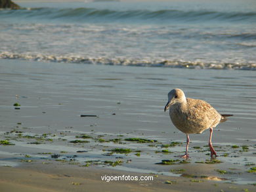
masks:
<instances>
[{"instance_id":1,"label":"speckled brown gull with pink legs walking on wet sand","mask_svg":"<svg viewBox=\"0 0 256 192\"><path fill-rule=\"evenodd\" d=\"M190 142L188 134L201 134L204 130L210 130L209 148L211 157L217 157L216 151L211 143L213 128L219 123L226 121L226 117L233 115L221 115L210 104L203 100L186 98L184 92L175 88L168 93L168 102L165 111L169 109L169 115L173 125L186 134L186 153L181 157L187 159L188 145Z\"/></svg>"}]
</instances>

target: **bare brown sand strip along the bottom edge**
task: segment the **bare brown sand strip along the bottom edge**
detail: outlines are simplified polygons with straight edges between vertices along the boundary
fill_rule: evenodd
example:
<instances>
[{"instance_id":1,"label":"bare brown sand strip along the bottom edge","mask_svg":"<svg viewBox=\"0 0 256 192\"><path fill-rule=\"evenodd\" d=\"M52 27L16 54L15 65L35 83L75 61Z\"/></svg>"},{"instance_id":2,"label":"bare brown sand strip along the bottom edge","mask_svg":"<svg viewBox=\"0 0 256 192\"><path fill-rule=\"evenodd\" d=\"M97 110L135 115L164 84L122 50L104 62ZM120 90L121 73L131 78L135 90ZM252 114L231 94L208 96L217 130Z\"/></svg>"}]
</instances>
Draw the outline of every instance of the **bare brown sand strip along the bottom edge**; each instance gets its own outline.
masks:
<instances>
[{"instance_id":1,"label":"bare brown sand strip along the bottom edge","mask_svg":"<svg viewBox=\"0 0 256 192\"><path fill-rule=\"evenodd\" d=\"M108 168L79 168L65 164L30 164L21 168L0 166L0 190L5 191L253 191L253 185L238 185L198 178L182 178ZM102 181L102 176L154 176L154 181Z\"/></svg>"}]
</instances>

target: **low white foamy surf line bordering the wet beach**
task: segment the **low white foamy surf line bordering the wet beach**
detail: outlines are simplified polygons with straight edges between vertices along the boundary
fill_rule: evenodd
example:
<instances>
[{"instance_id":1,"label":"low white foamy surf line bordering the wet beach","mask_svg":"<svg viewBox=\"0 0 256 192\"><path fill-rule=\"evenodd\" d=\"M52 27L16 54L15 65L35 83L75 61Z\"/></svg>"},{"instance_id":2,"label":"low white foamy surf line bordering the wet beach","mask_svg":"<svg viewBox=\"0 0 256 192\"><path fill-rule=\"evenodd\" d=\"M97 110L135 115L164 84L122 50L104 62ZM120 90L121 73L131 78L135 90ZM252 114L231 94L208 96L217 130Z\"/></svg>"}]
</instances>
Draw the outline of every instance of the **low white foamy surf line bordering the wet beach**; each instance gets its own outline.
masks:
<instances>
[{"instance_id":1,"label":"low white foamy surf line bordering the wet beach","mask_svg":"<svg viewBox=\"0 0 256 192\"><path fill-rule=\"evenodd\" d=\"M54 56L41 54L0 53L0 59L30 60L37 62L58 62L75 64L101 64L111 66L173 67L188 69L244 69L256 70L256 63L190 62L182 60L136 60L122 58L85 58L81 56Z\"/></svg>"}]
</instances>

